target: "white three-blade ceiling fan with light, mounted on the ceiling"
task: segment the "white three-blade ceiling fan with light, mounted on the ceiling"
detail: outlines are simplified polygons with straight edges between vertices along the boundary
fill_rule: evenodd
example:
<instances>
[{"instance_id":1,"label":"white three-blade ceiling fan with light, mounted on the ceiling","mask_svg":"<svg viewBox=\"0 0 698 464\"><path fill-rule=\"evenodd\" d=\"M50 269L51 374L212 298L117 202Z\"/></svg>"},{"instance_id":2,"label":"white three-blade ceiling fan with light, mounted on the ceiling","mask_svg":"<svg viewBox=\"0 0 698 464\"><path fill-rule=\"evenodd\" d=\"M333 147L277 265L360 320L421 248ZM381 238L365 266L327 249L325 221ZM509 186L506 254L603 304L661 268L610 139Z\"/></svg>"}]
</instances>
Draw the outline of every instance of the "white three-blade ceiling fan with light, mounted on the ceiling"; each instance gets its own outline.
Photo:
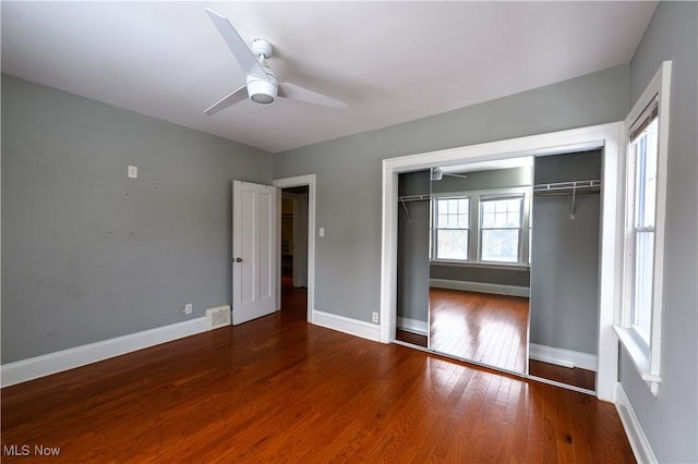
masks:
<instances>
[{"instance_id":1,"label":"white three-blade ceiling fan with light, mounted on the ceiling","mask_svg":"<svg viewBox=\"0 0 698 464\"><path fill-rule=\"evenodd\" d=\"M344 101L309 90L300 85L288 82L279 83L276 74L266 62L272 57L272 44L258 38L252 41L251 48L248 48L226 16L210 10L206 10L206 13L248 76L245 85L210 106L204 111L206 114L215 114L248 97L258 105L272 105L277 98L289 98L332 108L347 107Z\"/></svg>"}]
</instances>

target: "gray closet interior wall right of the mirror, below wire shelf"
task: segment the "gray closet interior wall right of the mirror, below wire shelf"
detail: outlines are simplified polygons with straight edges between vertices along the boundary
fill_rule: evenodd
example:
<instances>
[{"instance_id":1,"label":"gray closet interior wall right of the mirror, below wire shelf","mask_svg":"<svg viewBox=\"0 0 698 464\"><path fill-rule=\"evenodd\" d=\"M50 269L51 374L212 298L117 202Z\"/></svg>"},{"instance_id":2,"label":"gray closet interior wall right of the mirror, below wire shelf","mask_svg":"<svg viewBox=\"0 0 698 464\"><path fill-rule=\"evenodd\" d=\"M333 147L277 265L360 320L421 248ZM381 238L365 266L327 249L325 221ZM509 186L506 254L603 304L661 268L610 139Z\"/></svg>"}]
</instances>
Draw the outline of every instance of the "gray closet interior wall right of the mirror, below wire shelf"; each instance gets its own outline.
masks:
<instances>
[{"instance_id":1,"label":"gray closet interior wall right of the mirror, below wire shelf","mask_svg":"<svg viewBox=\"0 0 698 464\"><path fill-rule=\"evenodd\" d=\"M535 158L534 183L601 178L601 151ZM600 196L533 196L530 342L598 353Z\"/></svg>"}]
</instances>

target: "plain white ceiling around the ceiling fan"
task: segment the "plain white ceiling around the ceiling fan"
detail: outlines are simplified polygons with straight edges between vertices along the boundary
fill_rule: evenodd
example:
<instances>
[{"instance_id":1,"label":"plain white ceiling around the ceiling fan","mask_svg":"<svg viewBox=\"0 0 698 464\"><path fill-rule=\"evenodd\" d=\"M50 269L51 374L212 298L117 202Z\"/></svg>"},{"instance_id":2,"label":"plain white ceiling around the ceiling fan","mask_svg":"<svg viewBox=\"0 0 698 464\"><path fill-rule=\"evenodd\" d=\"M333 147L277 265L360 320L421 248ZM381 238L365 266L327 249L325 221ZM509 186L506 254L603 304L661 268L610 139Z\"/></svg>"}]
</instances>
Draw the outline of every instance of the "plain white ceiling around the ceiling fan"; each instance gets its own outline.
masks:
<instances>
[{"instance_id":1,"label":"plain white ceiling around the ceiling fan","mask_svg":"<svg viewBox=\"0 0 698 464\"><path fill-rule=\"evenodd\" d=\"M268 151L380 129L629 62L657 2L9 2L2 72ZM275 46L281 82L342 110L245 100L213 23Z\"/></svg>"}]
</instances>

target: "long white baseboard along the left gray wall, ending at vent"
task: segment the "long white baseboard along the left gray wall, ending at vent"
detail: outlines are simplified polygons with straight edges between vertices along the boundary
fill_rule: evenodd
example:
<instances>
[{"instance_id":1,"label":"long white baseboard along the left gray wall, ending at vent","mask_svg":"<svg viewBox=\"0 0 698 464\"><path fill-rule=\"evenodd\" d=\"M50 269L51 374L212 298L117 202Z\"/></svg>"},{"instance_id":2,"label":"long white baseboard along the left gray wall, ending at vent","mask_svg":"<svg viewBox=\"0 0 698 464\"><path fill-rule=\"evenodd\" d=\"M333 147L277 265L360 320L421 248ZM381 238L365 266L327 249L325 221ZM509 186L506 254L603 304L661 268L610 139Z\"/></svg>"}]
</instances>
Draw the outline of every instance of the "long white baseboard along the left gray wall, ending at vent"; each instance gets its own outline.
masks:
<instances>
[{"instance_id":1,"label":"long white baseboard along the left gray wall, ending at vent","mask_svg":"<svg viewBox=\"0 0 698 464\"><path fill-rule=\"evenodd\" d=\"M4 364L0 366L0 384L2 387L9 387L22 383L27 380L85 366L109 357L205 331L206 318L200 317L170 326L158 327L156 329L144 330L101 342L89 343L56 353Z\"/></svg>"}]
</instances>

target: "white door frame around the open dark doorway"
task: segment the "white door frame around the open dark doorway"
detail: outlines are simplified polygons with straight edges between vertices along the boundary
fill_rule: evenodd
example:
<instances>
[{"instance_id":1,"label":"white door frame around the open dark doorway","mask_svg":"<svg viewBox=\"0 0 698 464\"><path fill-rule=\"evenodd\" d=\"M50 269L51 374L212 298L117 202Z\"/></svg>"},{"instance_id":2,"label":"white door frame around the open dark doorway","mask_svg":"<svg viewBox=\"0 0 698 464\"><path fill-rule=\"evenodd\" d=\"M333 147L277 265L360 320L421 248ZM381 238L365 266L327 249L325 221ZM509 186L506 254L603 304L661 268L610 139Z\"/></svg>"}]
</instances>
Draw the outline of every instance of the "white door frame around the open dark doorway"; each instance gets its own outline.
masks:
<instances>
[{"instance_id":1,"label":"white door frame around the open dark doorway","mask_svg":"<svg viewBox=\"0 0 698 464\"><path fill-rule=\"evenodd\" d=\"M281 190L288 187L308 186L308 321L313 322L315 310L315 174L297 175L293 178L275 179L272 185ZM277 195L277 220L281 223L281 197ZM277 228L276 240L277 276L276 276L276 306L281 307L281 228Z\"/></svg>"}]
</instances>

